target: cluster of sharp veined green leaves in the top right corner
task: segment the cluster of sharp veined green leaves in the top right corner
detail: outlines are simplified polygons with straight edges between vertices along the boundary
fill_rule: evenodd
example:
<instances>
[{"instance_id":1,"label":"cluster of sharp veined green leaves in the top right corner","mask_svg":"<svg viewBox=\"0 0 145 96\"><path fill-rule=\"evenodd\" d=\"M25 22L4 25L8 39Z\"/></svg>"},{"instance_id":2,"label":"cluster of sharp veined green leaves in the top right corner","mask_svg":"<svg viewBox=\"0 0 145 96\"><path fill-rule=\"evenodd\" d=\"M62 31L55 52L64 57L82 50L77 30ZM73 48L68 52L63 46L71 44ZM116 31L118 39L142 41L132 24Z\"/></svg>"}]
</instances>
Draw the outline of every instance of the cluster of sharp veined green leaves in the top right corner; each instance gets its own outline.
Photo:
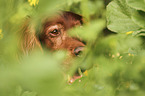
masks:
<instances>
[{"instance_id":1,"label":"cluster of sharp veined green leaves in the top right corner","mask_svg":"<svg viewBox=\"0 0 145 96\"><path fill-rule=\"evenodd\" d=\"M144 35L144 0L114 0L107 6L107 26L117 33L134 31L133 35ZM141 33L141 34L140 34Z\"/></svg>"}]
</instances>

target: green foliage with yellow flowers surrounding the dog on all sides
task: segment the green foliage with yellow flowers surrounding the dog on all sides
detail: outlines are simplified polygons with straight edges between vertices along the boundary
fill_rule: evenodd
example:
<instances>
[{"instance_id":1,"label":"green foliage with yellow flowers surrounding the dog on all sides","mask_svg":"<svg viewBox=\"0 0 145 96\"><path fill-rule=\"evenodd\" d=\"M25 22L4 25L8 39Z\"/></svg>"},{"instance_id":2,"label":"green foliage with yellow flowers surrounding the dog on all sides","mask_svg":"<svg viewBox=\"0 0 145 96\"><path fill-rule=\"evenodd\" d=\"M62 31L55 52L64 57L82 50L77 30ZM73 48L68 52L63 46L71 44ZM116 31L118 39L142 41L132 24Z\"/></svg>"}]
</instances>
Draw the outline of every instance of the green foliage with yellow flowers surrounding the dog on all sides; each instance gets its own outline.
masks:
<instances>
[{"instance_id":1,"label":"green foliage with yellow flowers surrounding the dog on all sides","mask_svg":"<svg viewBox=\"0 0 145 96\"><path fill-rule=\"evenodd\" d=\"M105 0L28 1L0 0L0 96L144 96L144 40L136 36L145 32L144 0L114 0L107 14ZM24 55L18 47L25 17L39 26L41 18L58 10L82 14L86 21L69 32L87 46L67 69L62 66L67 52L36 49ZM129 32L104 36L105 14L110 30ZM76 70L82 78L69 84Z\"/></svg>"}]
</instances>

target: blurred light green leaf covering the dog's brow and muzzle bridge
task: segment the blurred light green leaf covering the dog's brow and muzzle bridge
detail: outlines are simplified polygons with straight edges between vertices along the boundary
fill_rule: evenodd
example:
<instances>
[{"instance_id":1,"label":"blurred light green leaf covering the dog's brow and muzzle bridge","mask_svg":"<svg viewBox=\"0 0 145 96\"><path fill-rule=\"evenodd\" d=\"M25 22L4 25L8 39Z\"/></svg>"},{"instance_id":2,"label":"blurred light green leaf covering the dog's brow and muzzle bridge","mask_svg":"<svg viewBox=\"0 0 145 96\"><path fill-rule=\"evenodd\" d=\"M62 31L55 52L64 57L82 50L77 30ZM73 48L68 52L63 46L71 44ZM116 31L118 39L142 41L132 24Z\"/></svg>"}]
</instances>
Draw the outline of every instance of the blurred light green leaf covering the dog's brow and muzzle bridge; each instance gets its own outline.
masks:
<instances>
[{"instance_id":1,"label":"blurred light green leaf covering the dog's brow and muzzle bridge","mask_svg":"<svg viewBox=\"0 0 145 96\"><path fill-rule=\"evenodd\" d=\"M104 20L96 20L88 23L87 25L70 30L69 33L70 35L80 37L83 40L92 41L98 37L99 33L103 30L104 27Z\"/></svg>"}]
</instances>

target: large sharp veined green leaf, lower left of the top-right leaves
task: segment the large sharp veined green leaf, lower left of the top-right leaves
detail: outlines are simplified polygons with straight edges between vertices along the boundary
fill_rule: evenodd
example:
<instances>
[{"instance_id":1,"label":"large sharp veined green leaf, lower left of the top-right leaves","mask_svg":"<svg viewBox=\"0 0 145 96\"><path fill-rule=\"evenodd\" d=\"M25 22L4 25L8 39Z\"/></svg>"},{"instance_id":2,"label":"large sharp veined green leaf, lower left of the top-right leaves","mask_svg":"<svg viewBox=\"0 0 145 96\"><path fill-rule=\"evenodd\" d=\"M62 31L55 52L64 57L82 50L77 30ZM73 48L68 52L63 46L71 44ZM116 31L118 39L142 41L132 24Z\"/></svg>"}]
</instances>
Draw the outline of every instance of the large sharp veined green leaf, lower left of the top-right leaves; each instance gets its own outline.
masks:
<instances>
[{"instance_id":1,"label":"large sharp veined green leaf, lower left of the top-right leaves","mask_svg":"<svg viewBox=\"0 0 145 96\"><path fill-rule=\"evenodd\" d=\"M125 0L112 1L107 6L107 27L117 32L137 31L140 27L133 22L131 14L134 10L127 6Z\"/></svg>"}]
</instances>

